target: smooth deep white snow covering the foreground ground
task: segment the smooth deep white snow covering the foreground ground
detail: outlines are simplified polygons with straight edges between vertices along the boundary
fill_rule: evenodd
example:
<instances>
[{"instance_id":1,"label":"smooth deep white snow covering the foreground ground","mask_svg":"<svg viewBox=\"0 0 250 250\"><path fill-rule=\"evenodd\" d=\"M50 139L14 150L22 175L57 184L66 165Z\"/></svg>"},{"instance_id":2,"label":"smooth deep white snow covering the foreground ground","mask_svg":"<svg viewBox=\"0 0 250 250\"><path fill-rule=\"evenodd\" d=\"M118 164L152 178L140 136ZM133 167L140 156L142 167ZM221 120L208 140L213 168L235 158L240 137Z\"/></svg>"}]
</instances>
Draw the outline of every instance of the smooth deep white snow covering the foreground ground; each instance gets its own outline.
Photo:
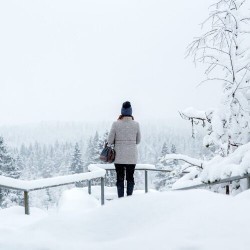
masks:
<instances>
[{"instance_id":1,"label":"smooth deep white snow covering the foreground ground","mask_svg":"<svg viewBox=\"0 0 250 250\"><path fill-rule=\"evenodd\" d=\"M1 250L247 250L250 191L136 194L100 206L86 190L64 193L57 211L0 211Z\"/></svg>"}]
</instances>

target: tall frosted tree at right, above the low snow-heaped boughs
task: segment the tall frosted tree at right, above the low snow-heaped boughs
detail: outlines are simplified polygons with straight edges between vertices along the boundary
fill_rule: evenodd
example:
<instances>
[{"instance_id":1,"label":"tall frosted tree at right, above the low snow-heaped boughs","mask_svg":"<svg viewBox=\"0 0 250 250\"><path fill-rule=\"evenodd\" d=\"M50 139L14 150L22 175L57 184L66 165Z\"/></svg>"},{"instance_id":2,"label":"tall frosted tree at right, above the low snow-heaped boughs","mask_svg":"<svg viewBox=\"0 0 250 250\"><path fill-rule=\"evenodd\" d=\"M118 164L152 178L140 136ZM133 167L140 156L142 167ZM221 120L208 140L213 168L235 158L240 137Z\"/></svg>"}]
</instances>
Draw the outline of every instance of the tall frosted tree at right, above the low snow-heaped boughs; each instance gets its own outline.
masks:
<instances>
[{"instance_id":1,"label":"tall frosted tree at right, above the low snow-heaped boughs","mask_svg":"<svg viewBox=\"0 0 250 250\"><path fill-rule=\"evenodd\" d=\"M204 145L227 156L250 141L250 12L246 0L219 0L211 6L204 33L188 47L196 63L207 65L206 81L221 82L220 106L215 110L181 112L192 125L207 129Z\"/></svg>"}]
</instances>

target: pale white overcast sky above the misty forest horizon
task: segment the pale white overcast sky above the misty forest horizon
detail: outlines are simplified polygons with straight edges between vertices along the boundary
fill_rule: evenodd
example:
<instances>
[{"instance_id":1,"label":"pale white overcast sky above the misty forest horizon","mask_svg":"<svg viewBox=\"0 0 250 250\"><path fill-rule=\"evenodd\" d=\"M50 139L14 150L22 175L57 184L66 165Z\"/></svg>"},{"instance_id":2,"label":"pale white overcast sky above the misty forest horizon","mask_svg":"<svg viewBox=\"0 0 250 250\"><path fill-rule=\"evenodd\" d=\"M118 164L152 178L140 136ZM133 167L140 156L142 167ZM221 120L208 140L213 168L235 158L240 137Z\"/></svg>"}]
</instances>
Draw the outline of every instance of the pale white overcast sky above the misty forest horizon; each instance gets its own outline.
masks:
<instances>
[{"instance_id":1,"label":"pale white overcast sky above the misty forest horizon","mask_svg":"<svg viewBox=\"0 0 250 250\"><path fill-rule=\"evenodd\" d=\"M219 87L184 59L211 0L0 1L0 124L138 119L179 122L214 107Z\"/></svg>"}]
</instances>

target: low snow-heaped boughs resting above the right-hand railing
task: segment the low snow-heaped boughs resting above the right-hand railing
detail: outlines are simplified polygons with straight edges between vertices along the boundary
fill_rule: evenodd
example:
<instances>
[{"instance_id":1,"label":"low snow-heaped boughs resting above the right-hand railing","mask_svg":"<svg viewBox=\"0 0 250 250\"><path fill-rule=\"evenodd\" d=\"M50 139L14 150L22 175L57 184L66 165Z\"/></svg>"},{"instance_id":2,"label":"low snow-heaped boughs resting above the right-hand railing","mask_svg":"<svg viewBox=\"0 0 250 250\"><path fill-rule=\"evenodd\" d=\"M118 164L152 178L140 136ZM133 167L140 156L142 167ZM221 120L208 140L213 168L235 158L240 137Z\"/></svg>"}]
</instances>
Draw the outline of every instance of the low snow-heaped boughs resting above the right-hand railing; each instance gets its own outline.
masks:
<instances>
[{"instance_id":1,"label":"low snow-heaped boughs resting above the right-hand railing","mask_svg":"<svg viewBox=\"0 0 250 250\"><path fill-rule=\"evenodd\" d=\"M250 143L239 146L226 157L215 156L211 160L198 160L185 155L166 155L164 160L178 159L187 162L190 174L185 175L174 185L174 190L204 188L225 183L226 193L229 194L230 184L241 182L243 190L250 188ZM246 187L247 186L247 187Z\"/></svg>"}]
</instances>

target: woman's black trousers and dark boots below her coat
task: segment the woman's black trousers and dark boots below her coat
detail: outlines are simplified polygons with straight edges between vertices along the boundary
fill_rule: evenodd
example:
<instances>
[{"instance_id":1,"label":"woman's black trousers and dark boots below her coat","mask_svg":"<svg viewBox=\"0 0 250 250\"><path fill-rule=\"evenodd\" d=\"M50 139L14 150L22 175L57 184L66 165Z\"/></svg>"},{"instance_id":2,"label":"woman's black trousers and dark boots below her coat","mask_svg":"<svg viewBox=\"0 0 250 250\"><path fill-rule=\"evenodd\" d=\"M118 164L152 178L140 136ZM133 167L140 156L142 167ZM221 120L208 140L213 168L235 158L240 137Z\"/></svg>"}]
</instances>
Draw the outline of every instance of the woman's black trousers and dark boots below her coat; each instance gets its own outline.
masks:
<instances>
[{"instance_id":1,"label":"woman's black trousers and dark boots below her coat","mask_svg":"<svg viewBox=\"0 0 250 250\"><path fill-rule=\"evenodd\" d=\"M116 186L118 197L121 198L124 196L124 177L126 172L127 180L127 196L133 194L134 190L134 172L135 164L115 164L116 170Z\"/></svg>"}]
</instances>

